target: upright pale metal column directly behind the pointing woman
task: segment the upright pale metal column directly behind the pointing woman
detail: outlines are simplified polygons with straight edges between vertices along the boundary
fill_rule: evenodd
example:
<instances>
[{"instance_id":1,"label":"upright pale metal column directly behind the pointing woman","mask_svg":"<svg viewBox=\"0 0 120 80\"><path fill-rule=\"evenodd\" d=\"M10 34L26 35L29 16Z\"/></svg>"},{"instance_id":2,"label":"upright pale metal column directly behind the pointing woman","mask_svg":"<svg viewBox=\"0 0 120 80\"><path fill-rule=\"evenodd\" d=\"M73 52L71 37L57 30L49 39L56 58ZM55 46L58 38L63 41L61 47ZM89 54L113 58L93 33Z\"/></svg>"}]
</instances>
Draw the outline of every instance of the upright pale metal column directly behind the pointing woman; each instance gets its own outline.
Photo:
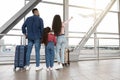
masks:
<instances>
[{"instance_id":1,"label":"upright pale metal column directly behind the pointing woman","mask_svg":"<svg viewBox=\"0 0 120 80\"><path fill-rule=\"evenodd\" d=\"M63 0L63 21L68 20L69 17L69 0ZM68 36L69 26L68 24L65 27L65 35ZM67 38L67 47L69 44L69 39Z\"/></svg>"}]
</instances>

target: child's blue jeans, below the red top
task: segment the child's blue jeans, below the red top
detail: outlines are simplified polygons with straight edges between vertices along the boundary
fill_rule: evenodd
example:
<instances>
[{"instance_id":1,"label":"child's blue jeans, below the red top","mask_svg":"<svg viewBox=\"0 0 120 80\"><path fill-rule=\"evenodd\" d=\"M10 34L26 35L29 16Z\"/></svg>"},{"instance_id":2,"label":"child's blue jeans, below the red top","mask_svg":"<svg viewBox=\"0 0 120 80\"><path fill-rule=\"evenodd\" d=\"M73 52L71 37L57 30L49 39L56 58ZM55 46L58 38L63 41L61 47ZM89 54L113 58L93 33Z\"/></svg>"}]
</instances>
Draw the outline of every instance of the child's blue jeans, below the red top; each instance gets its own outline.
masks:
<instances>
[{"instance_id":1,"label":"child's blue jeans, below the red top","mask_svg":"<svg viewBox=\"0 0 120 80\"><path fill-rule=\"evenodd\" d=\"M46 67L53 67L54 65L54 57L55 57L55 52L54 52L54 43L53 42L48 42L47 46L45 46L45 59L46 59Z\"/></svg>"}]
</instances>

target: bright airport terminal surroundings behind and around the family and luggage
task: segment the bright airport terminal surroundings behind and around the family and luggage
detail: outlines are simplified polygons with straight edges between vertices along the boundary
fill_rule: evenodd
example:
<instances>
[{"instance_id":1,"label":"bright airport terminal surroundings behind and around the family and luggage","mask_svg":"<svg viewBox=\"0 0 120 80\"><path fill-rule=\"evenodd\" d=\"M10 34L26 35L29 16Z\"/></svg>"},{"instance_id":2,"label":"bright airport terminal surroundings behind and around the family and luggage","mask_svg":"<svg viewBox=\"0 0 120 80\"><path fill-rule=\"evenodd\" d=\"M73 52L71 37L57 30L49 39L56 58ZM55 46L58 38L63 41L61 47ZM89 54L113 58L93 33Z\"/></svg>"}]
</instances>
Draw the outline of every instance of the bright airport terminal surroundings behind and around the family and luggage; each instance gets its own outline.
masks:
<instances>
[{"instance_id":1,"label":"bright airport terminal surroundings behind and around the family and luggage","mask_svg":"<svg viewBox=\"0 0 120 80\"><path fill-rule=\"evenodd\" d=\"M22 25L37 8L44 27L52 27L53 17L65 26L70 65L46 71L45 46L41 44L40 65L35 71L35 47L31 69L14 70L17 45L27 45ZM120 80L120 0L1 0L0 80Z\"/></svg>"}]
</instances>

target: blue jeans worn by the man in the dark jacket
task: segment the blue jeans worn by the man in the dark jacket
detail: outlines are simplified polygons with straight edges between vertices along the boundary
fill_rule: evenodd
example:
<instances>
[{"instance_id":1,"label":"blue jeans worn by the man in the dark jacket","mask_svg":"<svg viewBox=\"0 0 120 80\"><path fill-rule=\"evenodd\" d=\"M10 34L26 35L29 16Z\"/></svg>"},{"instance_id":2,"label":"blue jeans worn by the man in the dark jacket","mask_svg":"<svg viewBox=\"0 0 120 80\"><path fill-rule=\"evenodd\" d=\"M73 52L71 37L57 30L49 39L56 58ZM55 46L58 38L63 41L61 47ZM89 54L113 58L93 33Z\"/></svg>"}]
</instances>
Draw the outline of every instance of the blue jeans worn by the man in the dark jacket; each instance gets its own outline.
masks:
<instances>
[{"instance_id":1,"label":"blue jeans worn by the man in the dark jacket","mask_svg":"<svg viewBox=\"0 0 120 80\"><path fill-rule=\"evenodd\" d=\"M26 65L30 65L30 55L32 51L33 44L35 44L35 53L36 53L36 67L40 66L40 44L41 40L29 40L28 39L28 47L27 47L27 53L26 53Z\"/></svg>"}]
</instances>

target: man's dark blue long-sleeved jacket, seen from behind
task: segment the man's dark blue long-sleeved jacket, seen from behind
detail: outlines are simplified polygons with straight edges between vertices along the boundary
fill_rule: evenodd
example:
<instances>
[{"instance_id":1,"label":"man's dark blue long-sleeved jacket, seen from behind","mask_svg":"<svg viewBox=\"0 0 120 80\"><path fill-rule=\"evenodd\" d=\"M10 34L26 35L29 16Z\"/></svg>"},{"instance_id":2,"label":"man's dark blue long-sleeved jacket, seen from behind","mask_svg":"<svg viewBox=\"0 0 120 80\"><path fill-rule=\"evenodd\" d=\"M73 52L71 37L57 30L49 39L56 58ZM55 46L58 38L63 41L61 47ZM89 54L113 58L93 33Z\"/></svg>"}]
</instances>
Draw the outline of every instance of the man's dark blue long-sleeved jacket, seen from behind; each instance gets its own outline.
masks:
<instances>
[{"instance_id":1,"label":"man's dark blue long-sleeved jacket, seen from behind","mask_svg":"<svg viewBox=\"0 0 120 80\"><path fill-rule=\"evenodd\" d=\"M26 19L22 26L22 33L30 40L37 40L43 35L43 20L39 16L31 16Z\"/></svg>"}]
</instances>

